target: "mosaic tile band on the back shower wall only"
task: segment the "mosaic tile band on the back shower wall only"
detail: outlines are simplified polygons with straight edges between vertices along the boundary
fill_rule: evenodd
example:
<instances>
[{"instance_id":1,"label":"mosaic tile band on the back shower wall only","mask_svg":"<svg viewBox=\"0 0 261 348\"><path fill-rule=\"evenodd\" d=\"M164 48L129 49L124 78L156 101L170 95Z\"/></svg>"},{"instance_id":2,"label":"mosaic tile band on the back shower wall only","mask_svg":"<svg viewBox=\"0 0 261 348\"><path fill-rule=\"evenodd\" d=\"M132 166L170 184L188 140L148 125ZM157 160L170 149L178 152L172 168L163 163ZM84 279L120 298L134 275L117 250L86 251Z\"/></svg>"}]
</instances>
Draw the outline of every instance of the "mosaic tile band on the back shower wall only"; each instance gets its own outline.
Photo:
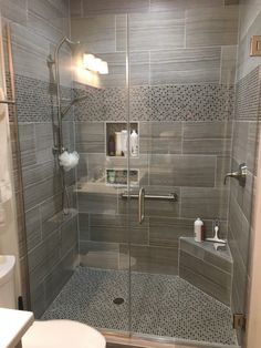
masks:
<instances>
[{"instance_id":1,"label":"mosaic tile band on the back shower wall only","mask_svg":"<svg viewBox=\"0 0 261 348\"><path fill-rule=\"evenodd\" d=\"M82 94L76 89L76 94ZM91 91L76 106L77 121L126 121L127 91L108 88ZM223 121L232 119L234 88L222 84L134 86L129 91L134 121Z\"/></svg>"}]
</instances>

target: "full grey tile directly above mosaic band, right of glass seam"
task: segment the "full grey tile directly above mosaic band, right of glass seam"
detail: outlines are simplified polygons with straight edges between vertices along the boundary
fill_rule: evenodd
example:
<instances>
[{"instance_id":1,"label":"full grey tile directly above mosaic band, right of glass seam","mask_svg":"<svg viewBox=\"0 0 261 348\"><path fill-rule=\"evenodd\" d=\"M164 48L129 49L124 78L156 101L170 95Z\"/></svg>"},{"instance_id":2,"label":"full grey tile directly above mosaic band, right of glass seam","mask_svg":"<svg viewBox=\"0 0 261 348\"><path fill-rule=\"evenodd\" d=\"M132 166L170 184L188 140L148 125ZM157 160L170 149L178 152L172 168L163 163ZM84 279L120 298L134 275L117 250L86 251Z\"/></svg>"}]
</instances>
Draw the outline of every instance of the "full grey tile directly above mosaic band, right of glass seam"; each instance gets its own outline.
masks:
<instances>
[{"instance_id":1,"label":"full grey tile directly above mosaic band, right of glass seam","mask_svg":"<svg viewBox=\"0 0 261 348\"><path fill-rule=\"evenodd\" d=\"M154 51L150 53L150 83L218 83L220 53L220 48Z\"/></svg>"}]
</instances>

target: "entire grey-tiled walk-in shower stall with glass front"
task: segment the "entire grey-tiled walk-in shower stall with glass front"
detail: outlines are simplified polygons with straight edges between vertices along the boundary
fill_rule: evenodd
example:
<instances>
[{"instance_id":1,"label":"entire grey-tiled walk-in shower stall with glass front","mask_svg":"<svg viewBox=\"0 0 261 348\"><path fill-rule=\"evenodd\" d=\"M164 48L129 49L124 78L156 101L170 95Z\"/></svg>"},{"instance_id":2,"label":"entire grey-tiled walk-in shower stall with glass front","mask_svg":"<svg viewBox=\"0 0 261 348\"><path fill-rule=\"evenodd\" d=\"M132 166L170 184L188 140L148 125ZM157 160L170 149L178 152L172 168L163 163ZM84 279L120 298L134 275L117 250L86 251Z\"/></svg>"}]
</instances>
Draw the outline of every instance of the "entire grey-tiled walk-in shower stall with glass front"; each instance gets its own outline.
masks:
<instances>
[{"instance_id":1,"label":"entire grey-tiled walk-in shower stall with glass front","mask_svg":"<svg viewBox=\"0 0 261 348\"><path fill-rule=\"evenodd\" d=\"M108 337L238 347L260 113L249 42L260 14L248 1L58 2L29 1L30 16L8 23L24 306ZM53 60L65 37L79 43ZM84 54L108 73L85 69ZM80 154L76 168L61 170L61 144ZM246 185L225 185L242 164ZM218 226L226 243L195 242L198 217L205 239Z\"/></svg>"}]
</instances>

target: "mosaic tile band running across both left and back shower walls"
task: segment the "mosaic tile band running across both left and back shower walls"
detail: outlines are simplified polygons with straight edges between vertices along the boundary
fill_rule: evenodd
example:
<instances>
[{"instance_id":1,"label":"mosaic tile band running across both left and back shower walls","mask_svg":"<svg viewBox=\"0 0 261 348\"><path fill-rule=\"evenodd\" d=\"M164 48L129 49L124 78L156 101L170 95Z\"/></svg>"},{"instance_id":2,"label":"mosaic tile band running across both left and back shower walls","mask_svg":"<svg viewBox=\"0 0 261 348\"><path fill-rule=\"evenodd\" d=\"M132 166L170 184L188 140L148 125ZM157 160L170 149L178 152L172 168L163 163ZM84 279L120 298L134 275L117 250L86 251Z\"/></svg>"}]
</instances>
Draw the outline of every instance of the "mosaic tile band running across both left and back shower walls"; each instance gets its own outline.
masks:
<instances>
[{"instance_id":1,"label":"mosaic tile band running across both left and back shower walls","mask_svg":"<svg viewBox=\"0 0 261 348\"><path fill-rule=\"evenodd\" d=\"M55 84L15 75L19 122L46 122L56 117ZM72 96L88 98L75 108L77 121L126 121L127 90L95 89L81 83L62 86L63 104ZM133 86L129 91L133 121L223 121L232 117L233 86L181 84ZM74 117L73 110L66 120Z\"/></svg>"}]
</instances>

